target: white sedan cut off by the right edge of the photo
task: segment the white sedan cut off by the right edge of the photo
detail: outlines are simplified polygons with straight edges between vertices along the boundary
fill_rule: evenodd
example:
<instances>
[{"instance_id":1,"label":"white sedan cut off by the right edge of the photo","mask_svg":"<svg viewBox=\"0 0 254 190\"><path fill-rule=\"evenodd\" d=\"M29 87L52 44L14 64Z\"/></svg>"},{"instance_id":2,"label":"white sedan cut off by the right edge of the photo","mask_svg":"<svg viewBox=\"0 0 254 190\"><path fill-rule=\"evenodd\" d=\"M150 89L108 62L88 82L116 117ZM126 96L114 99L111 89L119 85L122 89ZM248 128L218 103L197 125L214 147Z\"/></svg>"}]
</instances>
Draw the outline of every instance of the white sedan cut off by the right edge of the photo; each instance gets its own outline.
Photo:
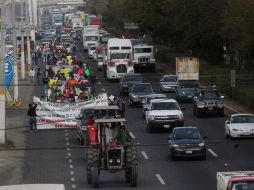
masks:
<instances>
[{"instance_id":1,"label":"white sedan cut off by the right edge of the photo","mask_svg":"<svg viewBox=\"0 0 254 190\"><path fill-rule=\"evenodd\" d=\"M226 138L254 137L254 115L233 114L225 123Z\"/></svg>"}]
</instances>

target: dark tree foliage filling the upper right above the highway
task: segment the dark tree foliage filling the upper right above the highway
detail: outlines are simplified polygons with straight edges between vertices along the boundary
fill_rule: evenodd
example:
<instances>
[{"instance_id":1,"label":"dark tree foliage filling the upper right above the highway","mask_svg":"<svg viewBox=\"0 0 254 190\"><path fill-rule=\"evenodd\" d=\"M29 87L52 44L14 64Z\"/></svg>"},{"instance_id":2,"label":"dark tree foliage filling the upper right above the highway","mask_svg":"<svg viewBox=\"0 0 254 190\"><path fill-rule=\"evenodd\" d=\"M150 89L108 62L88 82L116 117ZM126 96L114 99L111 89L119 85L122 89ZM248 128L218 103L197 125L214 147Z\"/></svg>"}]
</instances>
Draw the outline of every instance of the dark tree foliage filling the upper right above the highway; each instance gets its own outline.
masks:
<instances>
[{"instance_id":1,"label":"dark tree foliage filling the upper right above the highway","mask_svg":"<svg viewBox=\"0 0 254 190\"><path fill-rule=\"evenodd\" d=\"M108 26L135 22L155 43L213 63L224 62L225 42L254 57L254 0L108 0L105 7Z\"/></svg>"}]
</instances>

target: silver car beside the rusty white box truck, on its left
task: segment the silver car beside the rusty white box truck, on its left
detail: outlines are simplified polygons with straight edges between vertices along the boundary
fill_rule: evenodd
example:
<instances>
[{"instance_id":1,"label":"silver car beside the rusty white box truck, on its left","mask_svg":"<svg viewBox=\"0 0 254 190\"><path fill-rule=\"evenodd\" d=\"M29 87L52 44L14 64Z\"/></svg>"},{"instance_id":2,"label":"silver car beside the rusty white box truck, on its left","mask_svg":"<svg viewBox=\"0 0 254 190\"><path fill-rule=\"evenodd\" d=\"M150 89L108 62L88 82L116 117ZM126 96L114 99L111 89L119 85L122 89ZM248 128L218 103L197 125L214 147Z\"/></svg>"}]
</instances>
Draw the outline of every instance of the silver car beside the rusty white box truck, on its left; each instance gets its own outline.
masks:
<instances>
[{"instance_id":1,"label":"silver car beside the rusty white box truck, on its left","mask_svg":"<svg viewBox=\"0 0 254 190\"><path fill-rule=\"evenodd\" d=\"M160 80L160 91L161 92L174 92L178 86L176 75L163 75Z\"/></svg>"}]
</instances>

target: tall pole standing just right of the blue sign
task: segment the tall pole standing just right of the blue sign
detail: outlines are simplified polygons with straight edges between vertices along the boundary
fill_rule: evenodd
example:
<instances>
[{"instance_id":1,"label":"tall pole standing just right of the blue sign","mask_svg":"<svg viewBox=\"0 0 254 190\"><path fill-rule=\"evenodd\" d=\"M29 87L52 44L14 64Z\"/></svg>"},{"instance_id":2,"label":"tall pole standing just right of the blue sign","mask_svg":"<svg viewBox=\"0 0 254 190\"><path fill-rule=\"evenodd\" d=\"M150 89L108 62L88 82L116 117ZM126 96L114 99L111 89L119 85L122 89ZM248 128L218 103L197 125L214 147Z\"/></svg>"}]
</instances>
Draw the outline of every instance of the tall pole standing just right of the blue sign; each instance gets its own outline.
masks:
<instances>
[{"instance_id":1,"label":"tall pole standing just right of the blue sign","mask_svg":"<svg viewBox=\"0 0 254 190\"><path fill-rule=\"evenodd\" d=\"M19 87L18 87L18 61L17 61L17 28L16 28L16 14L15 14L15 1L11 1L12 9L12 31L13 31L13 64L14 64L14 100L19 97Z\"/></svg>"}]
</instances>

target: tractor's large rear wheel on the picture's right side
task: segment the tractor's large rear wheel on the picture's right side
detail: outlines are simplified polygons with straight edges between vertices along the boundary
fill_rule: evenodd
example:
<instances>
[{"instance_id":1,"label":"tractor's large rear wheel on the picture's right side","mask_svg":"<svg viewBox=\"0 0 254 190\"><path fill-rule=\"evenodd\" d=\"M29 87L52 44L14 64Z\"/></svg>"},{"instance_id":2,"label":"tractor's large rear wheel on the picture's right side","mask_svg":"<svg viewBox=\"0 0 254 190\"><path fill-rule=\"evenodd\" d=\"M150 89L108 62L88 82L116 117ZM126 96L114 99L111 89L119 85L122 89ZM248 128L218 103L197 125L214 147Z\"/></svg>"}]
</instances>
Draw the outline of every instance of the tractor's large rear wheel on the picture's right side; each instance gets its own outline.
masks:
<instances>
[{"instance_id":1,"label":"tractor's large rear wheel on the picture's right side","mask_svg":"<svg viewBox=\"0 0 254 190\"><path fill-rule=\"evenodd\" d=\"M126 159L125 179L128 183L130 183L131 187L136 187L138 179L137 148L134 146L126 147L125 159Z\"/></svg>"}]
</instances>

